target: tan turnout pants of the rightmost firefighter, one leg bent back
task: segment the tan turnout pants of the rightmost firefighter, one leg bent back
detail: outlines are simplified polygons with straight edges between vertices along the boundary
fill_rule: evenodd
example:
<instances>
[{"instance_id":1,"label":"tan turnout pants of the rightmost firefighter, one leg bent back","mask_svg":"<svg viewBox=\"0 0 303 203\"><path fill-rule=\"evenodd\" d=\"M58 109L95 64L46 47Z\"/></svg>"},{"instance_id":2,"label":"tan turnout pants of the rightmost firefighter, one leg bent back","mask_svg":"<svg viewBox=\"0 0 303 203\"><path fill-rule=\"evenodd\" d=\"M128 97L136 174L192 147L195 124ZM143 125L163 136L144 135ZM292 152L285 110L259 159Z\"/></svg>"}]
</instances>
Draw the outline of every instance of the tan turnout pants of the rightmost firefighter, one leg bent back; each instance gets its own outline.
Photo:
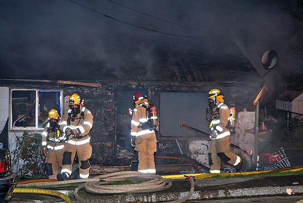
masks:
<instances>
[{"instance_id":1,"label":"tan turnout pants of the rightmost firefighter, one leg bent back","mask_svg":"<svg viewBox=\"0 0 303 203\"><path fill-rule=\"evenodd\" d=\"M220 139L212 139L209 149L209 164L211 170L221 169L221 159L228 164L235 165L237 161L237 155L230 151L229 141L230 136L226 136Z\"/></svg>"}]
</instances>

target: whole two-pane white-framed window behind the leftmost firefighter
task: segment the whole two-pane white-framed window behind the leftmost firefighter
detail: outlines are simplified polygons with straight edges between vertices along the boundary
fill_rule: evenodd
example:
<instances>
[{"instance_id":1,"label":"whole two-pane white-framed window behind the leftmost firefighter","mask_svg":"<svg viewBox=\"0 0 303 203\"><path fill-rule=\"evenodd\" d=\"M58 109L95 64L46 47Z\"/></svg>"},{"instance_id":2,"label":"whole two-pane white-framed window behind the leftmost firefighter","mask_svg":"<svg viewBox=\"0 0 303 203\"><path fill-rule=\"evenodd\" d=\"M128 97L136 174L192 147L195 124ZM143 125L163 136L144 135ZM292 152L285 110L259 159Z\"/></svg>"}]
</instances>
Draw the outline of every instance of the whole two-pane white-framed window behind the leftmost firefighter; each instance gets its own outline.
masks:
<instances>
[{"instance_id":1,"label":"whole two-pane white-framed window behind the leftmost firefighter","mask_svg":"<svg viewBox=\"0 0 303 203\"><path fill-rule=\"evenodd\" d=\"M51 109L62 112L61 90L11 90L12 129L43 129Z\"/></svg>"}]
</instances>

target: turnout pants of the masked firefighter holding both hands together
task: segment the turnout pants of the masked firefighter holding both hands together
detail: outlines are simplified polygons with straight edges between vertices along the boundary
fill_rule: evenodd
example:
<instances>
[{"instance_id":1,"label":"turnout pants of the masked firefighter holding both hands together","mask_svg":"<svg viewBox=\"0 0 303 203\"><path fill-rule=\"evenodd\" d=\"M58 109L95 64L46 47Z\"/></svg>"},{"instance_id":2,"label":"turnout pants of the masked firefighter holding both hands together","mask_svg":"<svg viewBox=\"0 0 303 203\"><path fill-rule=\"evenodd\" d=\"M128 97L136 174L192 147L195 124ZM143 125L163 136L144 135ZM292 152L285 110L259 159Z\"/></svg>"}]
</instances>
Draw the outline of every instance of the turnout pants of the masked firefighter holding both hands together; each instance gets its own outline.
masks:
<instances>
[{"instance_id":1,"label":"turnout pants of the masked firefighter holding both hands together","mask_svg":"<svg viewBox=\"0 0 303 203\"><path fill-rule=\"evenodd\" d=\"M90 169L89 159L92 153L90 143L88 142L81 145L66 143L63 150L62 172L72 174L73 162L77 154L80 178L88 178Z\"/></svg>"}]
</instances>

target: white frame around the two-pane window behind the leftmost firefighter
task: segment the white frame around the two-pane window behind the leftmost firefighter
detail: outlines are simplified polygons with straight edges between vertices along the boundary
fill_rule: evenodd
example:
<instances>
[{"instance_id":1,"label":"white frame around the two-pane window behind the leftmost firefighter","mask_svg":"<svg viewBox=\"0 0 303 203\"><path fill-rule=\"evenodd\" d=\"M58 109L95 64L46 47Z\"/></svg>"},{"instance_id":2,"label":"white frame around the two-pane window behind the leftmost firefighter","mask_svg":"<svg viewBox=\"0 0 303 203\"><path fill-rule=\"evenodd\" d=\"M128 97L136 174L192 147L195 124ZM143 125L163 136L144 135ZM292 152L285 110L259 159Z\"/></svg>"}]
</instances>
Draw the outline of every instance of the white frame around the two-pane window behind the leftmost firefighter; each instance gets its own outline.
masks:
<instances>
[{"instance_id":1,"label":"white frame around the two-pane window behind the leftmost firefighter","mask_svg":"<svg viewBox=\"0 0 303 203\"><path fill-rule=\"evenodd\" d=\"M35 126L13 126L13 91L35 91ZM10 130L43 130L43 127L39 127L39 92L60 92L60 113L62 115L63 108L64 108L64 97L63 97L63 90L62 89L23 89L23 88L12 88L10 89Z\"/></svg>"}]
</instances>

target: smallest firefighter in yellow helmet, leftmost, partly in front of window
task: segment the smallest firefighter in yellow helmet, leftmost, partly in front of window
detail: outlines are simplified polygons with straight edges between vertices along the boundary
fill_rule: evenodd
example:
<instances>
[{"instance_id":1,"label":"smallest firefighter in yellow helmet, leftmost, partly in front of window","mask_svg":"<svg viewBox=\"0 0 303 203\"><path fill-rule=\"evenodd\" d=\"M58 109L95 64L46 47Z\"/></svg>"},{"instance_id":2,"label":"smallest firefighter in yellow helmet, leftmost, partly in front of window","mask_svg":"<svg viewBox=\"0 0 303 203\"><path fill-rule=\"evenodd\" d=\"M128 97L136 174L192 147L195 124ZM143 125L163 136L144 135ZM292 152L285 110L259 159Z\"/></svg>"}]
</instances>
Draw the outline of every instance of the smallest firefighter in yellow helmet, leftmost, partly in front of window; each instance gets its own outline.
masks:
<instances>
[{"instance_id":1,"label":"smallest firefighter in yellow helmet, leftmost, partly in front of window","mask_svg":"<svg viewBox=\"0 0 303 203\"><path fill-rule=\"evenodd\" d=\"M46 169L49 179L57 180L58 172L62 167L64 133L60 130L58 123L60 114L56 109L48 112L48 122L42 133L43 154L46 157Z\"/></svg>"}]
</instances>

